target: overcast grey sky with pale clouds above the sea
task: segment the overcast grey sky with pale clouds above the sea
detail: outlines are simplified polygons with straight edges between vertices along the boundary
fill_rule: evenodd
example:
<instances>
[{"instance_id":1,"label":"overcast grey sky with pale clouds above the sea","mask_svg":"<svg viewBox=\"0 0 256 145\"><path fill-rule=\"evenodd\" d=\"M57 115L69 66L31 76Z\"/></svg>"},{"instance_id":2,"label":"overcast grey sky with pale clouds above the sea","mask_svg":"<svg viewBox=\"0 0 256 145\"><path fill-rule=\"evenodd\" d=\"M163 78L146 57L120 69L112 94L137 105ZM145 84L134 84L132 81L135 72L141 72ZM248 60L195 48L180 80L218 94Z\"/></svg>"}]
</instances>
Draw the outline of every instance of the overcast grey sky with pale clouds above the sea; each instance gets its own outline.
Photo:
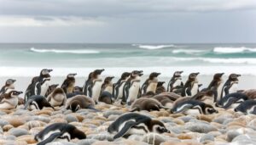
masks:
<instances>
[{"instance_id":1,"label":"overcast grey sky with pale clouds above the sea","mask_svg":"<svg viewBox=\"0 0 256 145\"><path fill-rule=\"evenodd\" d=\"M256 42L256 0L0 0L0 42Z\"/></svg>"}]
</instances>

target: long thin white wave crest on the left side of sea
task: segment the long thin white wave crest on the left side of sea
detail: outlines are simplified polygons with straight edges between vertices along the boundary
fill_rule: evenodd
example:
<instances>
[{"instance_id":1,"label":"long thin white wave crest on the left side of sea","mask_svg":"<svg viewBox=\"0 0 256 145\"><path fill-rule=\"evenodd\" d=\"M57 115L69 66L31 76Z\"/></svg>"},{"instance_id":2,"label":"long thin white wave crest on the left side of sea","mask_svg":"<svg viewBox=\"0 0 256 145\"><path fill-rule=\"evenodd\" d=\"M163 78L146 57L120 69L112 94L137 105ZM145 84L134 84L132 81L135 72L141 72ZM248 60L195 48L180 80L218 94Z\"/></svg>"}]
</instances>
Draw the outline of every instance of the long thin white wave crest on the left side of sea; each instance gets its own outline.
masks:
<instances>
[{"instance_id":1,"label":"long thin white wave crest on the left side of sea","mask_svg":"<svg viewBox=\"0 0 256 145\"><path fill-rule=\"evenodd\" d=\"M87 54L87 53L100 53L96 50L85 50L85 49L37 49L37 48L30 48L32 52L35 53L74 53L74 54Z\"/></svg>"}]
</instances>

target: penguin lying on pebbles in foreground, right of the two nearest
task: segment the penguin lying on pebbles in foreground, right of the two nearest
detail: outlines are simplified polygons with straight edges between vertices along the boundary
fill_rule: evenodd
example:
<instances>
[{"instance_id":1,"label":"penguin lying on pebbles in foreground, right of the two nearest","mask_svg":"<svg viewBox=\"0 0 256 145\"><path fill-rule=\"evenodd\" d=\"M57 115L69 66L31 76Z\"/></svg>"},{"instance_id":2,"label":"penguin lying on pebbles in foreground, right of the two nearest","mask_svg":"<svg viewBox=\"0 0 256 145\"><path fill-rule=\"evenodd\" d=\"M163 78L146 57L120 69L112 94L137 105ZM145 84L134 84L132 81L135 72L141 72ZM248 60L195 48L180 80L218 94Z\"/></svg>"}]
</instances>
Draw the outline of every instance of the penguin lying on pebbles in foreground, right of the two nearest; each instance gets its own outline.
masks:
<instances>
[{"instance_id":1,"label":"penguin lying on pebbles in foreground, right of the two nearest","mask_svg":"<svg viewBox=\"0 0 256 145\"><path fill-rule=\"evenodd\" d=\"M137 113L128 113L119 116L117 120L108 126L108 132L117 132L113 136L113 139L134 134L144 135L149 132L158 134L170 133L160 120L152 120L146 115Z\"/></svg>"}]
</instances>

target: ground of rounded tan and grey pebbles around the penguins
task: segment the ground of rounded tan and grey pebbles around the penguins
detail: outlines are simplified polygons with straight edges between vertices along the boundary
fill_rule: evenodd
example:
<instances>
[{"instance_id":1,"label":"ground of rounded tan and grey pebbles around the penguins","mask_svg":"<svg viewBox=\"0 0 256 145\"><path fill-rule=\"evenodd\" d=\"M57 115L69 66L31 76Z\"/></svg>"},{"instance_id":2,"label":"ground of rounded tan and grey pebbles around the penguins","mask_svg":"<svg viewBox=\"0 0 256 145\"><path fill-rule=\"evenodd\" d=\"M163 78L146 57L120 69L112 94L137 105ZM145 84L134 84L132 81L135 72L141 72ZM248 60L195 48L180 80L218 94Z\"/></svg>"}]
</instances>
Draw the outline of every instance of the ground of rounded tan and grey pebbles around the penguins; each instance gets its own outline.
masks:
<instances>
[{"instance_id":1,"label":"ground of rounded tan and grey pebbles around the penguins","mask_svg":"<svg viewBox=\"0 0 256 145\"><path fill-rule=\"evenodd\" d=\"M120 104L97 104L94 112L90 109L80 109L72 113L67 109L45 108L43 110L19 109L0 110L0 144L26 145L36 144L34 136L45 126L66 122L84 131L87 138L74 139L71 142L51 142L49 145L199 145L199 144L256 144L256 115L238 114L234 111L218 109L218 114L170 114L167 110L140 111L152 118L165 122L171 133L162 135L148 134L145 136L131 135L129 138L119 138L113 141L113 135L108 133L108 125L119 115L129 112Z\"/></svg>"}]
</instances>

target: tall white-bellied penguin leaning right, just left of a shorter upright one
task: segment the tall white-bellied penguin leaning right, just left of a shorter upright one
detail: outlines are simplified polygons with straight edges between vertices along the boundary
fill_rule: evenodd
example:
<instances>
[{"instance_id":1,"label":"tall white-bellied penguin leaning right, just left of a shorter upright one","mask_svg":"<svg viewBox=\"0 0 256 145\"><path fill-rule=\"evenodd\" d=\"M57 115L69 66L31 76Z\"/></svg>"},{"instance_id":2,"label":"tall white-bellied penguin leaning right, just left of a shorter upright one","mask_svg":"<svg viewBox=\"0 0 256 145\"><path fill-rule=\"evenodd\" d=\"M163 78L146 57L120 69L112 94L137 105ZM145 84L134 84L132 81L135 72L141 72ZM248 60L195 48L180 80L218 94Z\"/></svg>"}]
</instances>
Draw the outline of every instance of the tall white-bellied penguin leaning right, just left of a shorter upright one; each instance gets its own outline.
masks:
<instances>
[{"instance_id":1,"label":"tall white-bellied penguin leaning right, just left of a shorter upright one","mask_svg":"<svg viewBox=\"0 0 256 145\"><path fill-rule=\"evenodd\" d=\"M102 90L102 78L101 74L104 71L102 70L94 70L88 76L87 81L85 81L83 86L83 92L85 96L89 96L96 103L101 95Z\"/></svg>"}]
</instances>

